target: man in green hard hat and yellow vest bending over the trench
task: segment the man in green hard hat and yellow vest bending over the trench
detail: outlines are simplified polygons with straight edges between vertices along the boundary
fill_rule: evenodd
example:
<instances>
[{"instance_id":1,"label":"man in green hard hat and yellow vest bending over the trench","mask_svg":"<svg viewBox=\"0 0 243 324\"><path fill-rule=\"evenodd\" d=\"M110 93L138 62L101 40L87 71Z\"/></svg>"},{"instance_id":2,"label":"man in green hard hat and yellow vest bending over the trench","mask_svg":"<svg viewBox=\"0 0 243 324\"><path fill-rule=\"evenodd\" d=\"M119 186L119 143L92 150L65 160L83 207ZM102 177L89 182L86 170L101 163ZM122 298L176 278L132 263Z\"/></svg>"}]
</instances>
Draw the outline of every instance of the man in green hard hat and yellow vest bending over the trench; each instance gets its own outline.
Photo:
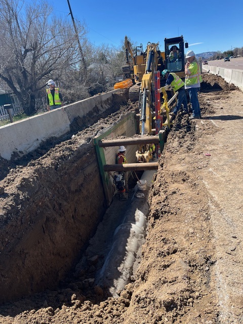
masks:
<instances>
[{"instance_id":1,"label":"man in green hard hat and yellow vest bending over the trench","mask_svg":"<svg viewBox=\"0 0 243 324\"><path fill-rule=\"evenodd\" d=\"M166 78L166 86L171 85L174 93L178 91L177 103L176 106L170 114L172 116L176 116L177 112L181 108L183 104L183 112L188 113L187 109L187 99L186 99L186 91L185 84L183 80L174 72L169 72L168 70L163 70L161 72L162 76Z\"/></svg>"}]
</instances>

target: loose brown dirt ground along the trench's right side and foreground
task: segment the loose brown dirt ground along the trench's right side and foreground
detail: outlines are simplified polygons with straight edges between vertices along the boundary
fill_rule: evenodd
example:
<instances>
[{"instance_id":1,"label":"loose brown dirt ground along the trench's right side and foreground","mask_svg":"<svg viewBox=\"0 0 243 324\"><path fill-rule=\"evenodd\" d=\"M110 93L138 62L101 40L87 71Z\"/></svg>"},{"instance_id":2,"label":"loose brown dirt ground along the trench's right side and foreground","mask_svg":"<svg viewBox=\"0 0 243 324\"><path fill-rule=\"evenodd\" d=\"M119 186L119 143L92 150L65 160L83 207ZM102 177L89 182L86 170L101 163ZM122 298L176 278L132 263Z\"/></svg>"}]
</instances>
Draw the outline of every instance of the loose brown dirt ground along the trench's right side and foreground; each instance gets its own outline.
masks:
<instances>
[{"instance_id":1,"label":"loose brown dirt ground along the trench's right side and foreground","mask_svg":"<svg viewBox=\"0 0 243 324\"><path fill-rule=\"evenodd\" d=\"M0 323L243 323L243 93L221 77L203 78L203 118L178 113L159 159L131 283L109 297L76 268L57 290L0 307Z\"/></svg>"}]
</instances>

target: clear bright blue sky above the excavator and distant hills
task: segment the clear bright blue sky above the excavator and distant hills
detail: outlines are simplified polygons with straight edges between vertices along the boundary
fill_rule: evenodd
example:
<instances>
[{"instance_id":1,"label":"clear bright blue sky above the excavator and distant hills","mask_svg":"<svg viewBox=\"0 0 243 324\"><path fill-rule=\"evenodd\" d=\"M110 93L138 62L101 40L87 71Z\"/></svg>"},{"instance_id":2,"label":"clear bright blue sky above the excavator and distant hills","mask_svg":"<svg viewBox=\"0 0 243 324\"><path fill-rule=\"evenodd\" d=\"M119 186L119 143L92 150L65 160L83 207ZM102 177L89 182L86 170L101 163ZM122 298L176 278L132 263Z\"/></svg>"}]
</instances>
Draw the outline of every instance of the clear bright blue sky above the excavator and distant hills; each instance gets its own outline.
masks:
<instances>
[{"instance_id":1,"label":"clear bright blue sky above the excavator and distant hills","mask_svg":"<svg viewBox=\"0 0 243 324\"><path fill-rule=\"evenodd\" d=\"M144 49L148 42L159 42L163 50L165 37L183 35L196 54L243 47L242 0L69 2L75 20L85 21L88 40L96 46L119 48L127 35ZM56 14L68 15L67 0L52 5Z\"/></svg>"}]
</instances>

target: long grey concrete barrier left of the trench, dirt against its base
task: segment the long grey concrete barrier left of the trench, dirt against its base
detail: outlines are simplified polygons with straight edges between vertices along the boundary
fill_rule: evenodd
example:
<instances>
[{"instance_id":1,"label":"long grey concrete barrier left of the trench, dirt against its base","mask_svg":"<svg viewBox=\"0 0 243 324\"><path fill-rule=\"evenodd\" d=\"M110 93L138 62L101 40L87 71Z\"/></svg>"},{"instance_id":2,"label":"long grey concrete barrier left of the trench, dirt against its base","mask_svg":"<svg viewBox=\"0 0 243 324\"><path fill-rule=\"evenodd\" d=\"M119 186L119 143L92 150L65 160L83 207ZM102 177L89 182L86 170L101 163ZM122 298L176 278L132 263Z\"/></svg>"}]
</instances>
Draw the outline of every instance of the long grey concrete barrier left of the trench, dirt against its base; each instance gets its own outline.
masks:
<instances>
[{"instance_id":1,"label":"long grey concrete barrier left of the trench, dirt against its base","mask_svg":"<svg viewBox=\"0 0 243 324\"><path fill-rule=\"evenodd\" d=\"M27 154L36 149L42 141L52 136L60 137L70 132L70 124L76 117L83 117L91 110L105 111L112 102L112 95L119 89L96 95L40 115L26 118L0 127L0 155L10 160L13 152Z\"/></svg>"}]
</instances>

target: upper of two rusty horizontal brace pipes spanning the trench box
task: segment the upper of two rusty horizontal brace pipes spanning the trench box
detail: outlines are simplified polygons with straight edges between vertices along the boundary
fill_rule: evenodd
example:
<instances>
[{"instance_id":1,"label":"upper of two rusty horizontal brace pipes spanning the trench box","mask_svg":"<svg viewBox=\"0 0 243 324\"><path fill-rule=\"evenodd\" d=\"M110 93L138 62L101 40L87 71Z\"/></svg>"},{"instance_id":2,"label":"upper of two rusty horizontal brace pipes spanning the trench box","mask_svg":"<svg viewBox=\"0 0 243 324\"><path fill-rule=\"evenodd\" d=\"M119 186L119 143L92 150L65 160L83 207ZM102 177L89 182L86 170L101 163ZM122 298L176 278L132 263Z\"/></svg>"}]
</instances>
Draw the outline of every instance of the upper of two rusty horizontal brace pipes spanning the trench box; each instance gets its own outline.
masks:
<instances>
[{"instance_id":1,"label":"upper of two rusty horizontal brace pipes spanning the trench box","mask_svg":"<svg viewBox=\"0 0 243 324\"><path fill-rule=\"evenodd\" d=\"M137 145L137 144L158 144L158 136L143 136L136 138L124 138L117 140L100 140L99 147L120 146L120 145Z\"/></svg>"}]
</instances>

